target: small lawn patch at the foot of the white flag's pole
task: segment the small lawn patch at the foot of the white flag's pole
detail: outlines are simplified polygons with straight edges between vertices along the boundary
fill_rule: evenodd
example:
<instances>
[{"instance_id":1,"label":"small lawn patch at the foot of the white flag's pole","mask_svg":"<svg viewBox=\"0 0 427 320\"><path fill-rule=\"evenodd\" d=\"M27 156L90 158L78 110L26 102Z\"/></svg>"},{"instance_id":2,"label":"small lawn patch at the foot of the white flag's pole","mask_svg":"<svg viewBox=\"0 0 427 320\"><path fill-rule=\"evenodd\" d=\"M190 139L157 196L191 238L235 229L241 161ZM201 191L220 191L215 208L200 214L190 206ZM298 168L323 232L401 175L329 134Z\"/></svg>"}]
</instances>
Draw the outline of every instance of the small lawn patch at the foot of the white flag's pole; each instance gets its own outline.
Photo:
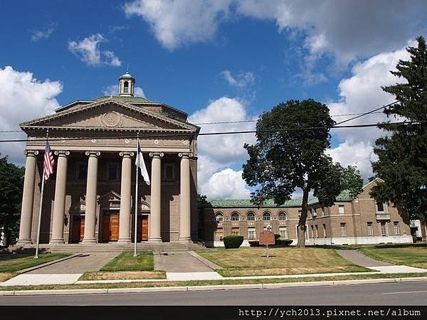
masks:
<instances>
[{"instance_id":1,"label":"small lawn patch at the foot of the white flag's pole","mask_svg":"<svg viewBox=\"0 0 427 320\"><path fill-rule=\"evenodd\" d=\"M137 257L133 252L122 252L107 263L100 271L152 271L154 270L153 252L141 250L137 252Z\"/></svg>"}]
</instances>

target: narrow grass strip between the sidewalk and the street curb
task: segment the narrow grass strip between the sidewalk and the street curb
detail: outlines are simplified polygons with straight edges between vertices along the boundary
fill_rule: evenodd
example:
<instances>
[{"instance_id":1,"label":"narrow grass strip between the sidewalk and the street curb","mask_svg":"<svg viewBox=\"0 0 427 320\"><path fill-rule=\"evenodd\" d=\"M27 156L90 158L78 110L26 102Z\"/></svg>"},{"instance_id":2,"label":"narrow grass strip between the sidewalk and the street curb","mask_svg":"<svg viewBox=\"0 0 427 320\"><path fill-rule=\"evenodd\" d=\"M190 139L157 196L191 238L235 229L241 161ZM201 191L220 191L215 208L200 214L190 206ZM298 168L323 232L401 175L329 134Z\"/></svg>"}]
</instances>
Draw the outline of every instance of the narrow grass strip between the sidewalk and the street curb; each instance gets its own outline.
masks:
<instances>
[{"instance_id":1,"label":"narrow grass strip between the sidewalk and the street curb","mask_svg":"<svg viewBox=\"0 0 427 320\"><path fill-rule=\"evenodd\" d=\"M226 284L268 284L268 283L291 283L291 282L315 282L315 281L339 281L355 279L390 279L401 277L426 277L426 273L389 273L389 274L358 274L334 277L310 277L293 279L239 279L239 280L203 280L182 282L132 282L114 284L46 284L37 286L9 286L0 287L0 291L18 290L60 290L60 289L115 289L115 288L152 288L152 287L186 287Z\"/></svg>"}]
</instances>

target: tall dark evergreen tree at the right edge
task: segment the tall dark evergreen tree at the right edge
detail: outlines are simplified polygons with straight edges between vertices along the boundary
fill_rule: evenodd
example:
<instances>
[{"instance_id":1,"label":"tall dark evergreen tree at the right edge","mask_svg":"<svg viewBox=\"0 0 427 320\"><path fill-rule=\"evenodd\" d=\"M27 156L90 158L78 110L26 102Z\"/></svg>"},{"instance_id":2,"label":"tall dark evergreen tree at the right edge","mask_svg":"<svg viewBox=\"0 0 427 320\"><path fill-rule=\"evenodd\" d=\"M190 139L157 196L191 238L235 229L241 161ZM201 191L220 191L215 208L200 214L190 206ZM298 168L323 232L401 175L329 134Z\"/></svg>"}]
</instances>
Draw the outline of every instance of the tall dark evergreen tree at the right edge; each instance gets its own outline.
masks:
<instances>
[{"instance_id":1,"label":"tall dark evergreen tree at the right edge","mask_svg":"<svg viewBox=\"0 0 427 320\"><path fill-rule=\"evenodd\" d=\"M387 117L418 123L381 123L386 135L376 140L378 161L372 164L385 183L374 186L371 195L393 203L406 220L427 218L427 48L423 37L416 40L418 46L406 49L410 59L399 60L390 71L404 81L382 89L398 100L384 109Z\"/></svg>"}]
</instances>

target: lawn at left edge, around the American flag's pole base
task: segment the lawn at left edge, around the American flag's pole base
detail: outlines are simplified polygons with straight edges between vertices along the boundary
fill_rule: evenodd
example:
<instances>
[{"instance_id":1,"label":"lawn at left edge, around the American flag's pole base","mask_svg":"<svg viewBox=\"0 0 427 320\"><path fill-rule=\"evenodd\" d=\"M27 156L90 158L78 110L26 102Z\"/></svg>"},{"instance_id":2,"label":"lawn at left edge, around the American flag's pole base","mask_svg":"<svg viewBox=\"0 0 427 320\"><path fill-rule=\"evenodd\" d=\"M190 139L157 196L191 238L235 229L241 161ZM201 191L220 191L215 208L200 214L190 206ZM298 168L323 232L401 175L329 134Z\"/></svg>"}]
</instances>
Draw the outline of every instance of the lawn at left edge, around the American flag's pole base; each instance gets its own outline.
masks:
<instances>
[{"instance_id":1,"label":"lawn at left edge, around the American flag's pole base","mask_svg":"<svg viewBox=\"0 0 427 320\"><path fill-rule=\"evenodd\" d=\"M38 259L34 259L33 255L25 257L13 255L10 258L6 257L6 259L0 261L0 272L16 272L63 257L68 257L69 255L69 253L43 253L38 256Z\"/></svg>"}]
</instances>

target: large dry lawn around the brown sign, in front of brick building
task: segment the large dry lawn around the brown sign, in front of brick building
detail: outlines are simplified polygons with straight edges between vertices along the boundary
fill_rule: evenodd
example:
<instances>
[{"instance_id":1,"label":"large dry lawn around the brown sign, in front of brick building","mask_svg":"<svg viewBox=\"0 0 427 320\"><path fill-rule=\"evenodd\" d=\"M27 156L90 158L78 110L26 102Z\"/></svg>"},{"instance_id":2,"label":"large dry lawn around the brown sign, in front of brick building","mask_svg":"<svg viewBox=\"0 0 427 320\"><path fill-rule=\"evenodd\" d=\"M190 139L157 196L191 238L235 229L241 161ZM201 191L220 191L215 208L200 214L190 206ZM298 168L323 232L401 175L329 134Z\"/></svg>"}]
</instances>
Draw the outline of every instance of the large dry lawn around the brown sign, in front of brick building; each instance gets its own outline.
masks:
<instances>
[{"instance_id":1,"label":"large dry lawn around the brown sign, in front of brick building","mask_svg":"<svg viewBox=\"0 0 427 320\"><path fill-rule=\"evenodd\" d=\"M353 265L333 249L278 247L268 252L272 257L262 257L265 248L258 247L218 248L197 253L223 267L218 270L223 277L371 271Z\"/></svg>"}]
</instances>

